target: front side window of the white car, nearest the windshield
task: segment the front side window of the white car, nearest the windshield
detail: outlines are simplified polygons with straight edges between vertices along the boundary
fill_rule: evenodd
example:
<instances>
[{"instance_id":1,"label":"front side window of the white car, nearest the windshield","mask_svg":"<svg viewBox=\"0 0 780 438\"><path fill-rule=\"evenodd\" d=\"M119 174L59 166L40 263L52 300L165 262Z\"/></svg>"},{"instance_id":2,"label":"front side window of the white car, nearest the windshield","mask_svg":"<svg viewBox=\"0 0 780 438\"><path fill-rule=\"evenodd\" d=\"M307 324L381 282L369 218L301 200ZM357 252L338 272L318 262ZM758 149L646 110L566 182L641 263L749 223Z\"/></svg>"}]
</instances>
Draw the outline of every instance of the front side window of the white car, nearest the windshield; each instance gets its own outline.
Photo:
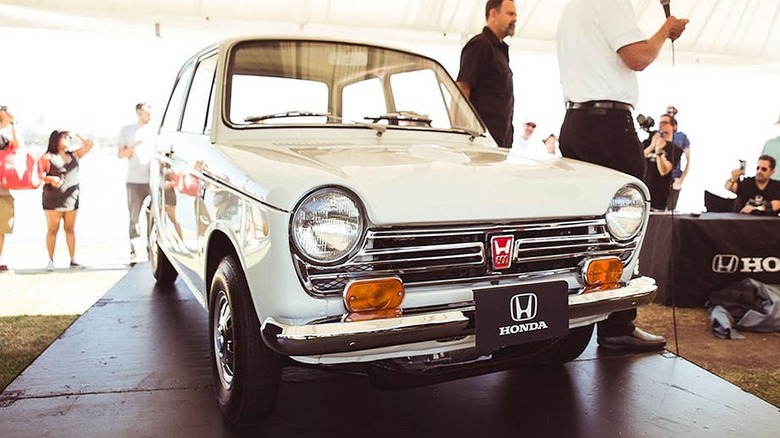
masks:
<instances>
[{"instance_id":1,"label":"front side window of the white car, nearest the windshield","mask_svg":"<svg viewBox=\"0 0 780 438\"><path fill-rule=\"evenodd\" d=\"M203 134L206 132L206 124L209 113L209 104L212 102L214 90L214 73L217 69L217 55L214 54L201 60L195 69L192 78L190 92L184 106L184 116L181 122L183 132Z\"/></svg>"}]
</instances>

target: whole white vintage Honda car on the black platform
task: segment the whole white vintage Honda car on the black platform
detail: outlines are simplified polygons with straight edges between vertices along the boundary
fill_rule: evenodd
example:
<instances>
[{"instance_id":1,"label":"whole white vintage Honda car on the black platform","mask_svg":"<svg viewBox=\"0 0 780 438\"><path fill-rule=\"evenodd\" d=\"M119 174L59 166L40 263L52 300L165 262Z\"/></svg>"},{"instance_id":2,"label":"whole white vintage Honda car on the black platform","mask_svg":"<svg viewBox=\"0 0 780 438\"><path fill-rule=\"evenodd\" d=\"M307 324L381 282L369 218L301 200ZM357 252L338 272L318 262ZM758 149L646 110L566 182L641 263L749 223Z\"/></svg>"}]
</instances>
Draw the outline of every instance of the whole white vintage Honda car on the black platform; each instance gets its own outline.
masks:
<instances>
[{"instance_id":1,"label":"whole white vintage Honda car on the black platform","mask_svg":"<svg viewBox=\"0 0 780 438\"><path fill-rule=\"evenodd\" d=\"M177 77L152 165L150 261L208 309L216 396L271 413L282 367L420 385L576 358L652 300L641 181L496 146L435 60L242 38Z\"/></svg>"}]
</instances>

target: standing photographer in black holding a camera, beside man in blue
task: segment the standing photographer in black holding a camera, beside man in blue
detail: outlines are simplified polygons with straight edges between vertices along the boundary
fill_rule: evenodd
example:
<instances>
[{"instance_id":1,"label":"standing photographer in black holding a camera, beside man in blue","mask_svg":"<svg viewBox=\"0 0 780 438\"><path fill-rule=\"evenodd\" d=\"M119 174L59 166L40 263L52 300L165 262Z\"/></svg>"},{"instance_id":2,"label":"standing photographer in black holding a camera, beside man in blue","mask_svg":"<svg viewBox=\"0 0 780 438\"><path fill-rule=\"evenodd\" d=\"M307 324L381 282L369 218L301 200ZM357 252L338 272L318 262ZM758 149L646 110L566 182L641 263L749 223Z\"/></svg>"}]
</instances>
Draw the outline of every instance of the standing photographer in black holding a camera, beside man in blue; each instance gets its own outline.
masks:
<instances>
[{"instance_id":1,"label":"standing photographer in black holding a camera, beside man in blue","mask_svg":"<svg viewBox=\"0 0 780 438\"><path fill-rule=\"evenodd\" d=\"M658 131L644 142L647 160L644 182L650 190L650 209L653 211L666 209L673 181L672 170L682 156L682 150L672 141L676 131L677 120L669 114L662 114Z\"/></svg>"}]
</instances>

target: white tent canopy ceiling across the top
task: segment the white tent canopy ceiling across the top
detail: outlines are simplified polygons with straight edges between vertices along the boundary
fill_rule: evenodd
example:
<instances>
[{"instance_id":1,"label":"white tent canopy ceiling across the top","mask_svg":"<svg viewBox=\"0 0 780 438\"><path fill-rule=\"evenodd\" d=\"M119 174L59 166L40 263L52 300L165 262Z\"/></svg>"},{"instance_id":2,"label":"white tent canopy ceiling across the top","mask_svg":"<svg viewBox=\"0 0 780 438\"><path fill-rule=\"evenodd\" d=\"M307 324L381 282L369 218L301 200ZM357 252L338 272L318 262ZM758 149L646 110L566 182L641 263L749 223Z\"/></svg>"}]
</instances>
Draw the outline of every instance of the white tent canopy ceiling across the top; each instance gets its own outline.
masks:
<instances>
[{"instance_id":1,"label":"white tent canopy ceiling across the top","mask_svg":"<svg viewBox=\"0 0 780 438\"><path fill-rule=\"evenodd\" d=\"M550 50L567 0L516 0L516 39ZM640 26L663 20L658 0L632 0ZM431 42L479 32L484 0L0 0L0 26L103 32L201 34L327 33L356 30L376 39L403 35ZM678 55L780 70L780 0L674 0L691 20ZM397 38L397 37L396 37Z\"/></svg>"}]
</instances>

